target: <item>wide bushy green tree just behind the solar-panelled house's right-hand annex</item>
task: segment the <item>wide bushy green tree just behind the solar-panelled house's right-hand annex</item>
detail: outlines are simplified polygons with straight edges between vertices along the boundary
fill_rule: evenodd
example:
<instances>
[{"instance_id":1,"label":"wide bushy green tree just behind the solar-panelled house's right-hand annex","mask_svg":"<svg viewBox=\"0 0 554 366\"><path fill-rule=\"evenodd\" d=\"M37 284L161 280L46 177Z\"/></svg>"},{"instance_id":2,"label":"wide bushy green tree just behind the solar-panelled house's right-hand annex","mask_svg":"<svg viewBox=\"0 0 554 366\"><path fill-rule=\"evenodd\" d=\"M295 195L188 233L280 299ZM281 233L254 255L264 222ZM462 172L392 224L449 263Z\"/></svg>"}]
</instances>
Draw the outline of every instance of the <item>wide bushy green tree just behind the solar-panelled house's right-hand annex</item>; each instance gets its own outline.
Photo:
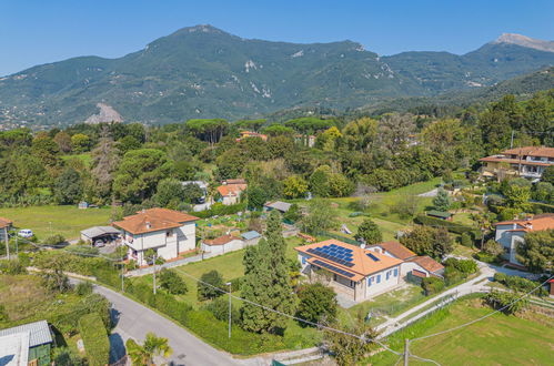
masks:
<instances>
[{"instance_id":1,"label":"wide bushy green tree just behind the solar-panelled house's right-hand annex","mask_svg":"<svg viewBox=\"0 0 554 366\"><path fill-rule=\"evenodd\" d=\"M453 242L444 227L417 225L403 235L400 242L417 255L441 260L453 250Z\"/></svg>"}]
</instances>

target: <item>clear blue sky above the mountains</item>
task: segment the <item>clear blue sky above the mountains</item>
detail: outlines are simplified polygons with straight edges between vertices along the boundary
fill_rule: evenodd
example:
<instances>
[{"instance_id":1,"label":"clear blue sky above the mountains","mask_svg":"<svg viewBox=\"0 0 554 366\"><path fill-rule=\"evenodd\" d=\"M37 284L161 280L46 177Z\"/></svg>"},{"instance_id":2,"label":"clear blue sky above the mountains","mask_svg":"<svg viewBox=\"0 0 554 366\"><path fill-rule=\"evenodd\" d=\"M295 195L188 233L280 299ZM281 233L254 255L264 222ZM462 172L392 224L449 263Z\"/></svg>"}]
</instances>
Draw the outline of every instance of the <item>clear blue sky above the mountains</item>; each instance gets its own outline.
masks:
<instances>
[{"instance_id":1,"label":"clear blue sky above the mountains","mask_svg":"<svg viewBox=\"0 0 554 366\"><path fill-rule=\"evenodd\" d=\"M0 75L77 55L121 57L207 23L243 38L350 39L379 54L460 54L503 32L552 40L554 0L0 0Z\"/></svg>"}]
</instances>

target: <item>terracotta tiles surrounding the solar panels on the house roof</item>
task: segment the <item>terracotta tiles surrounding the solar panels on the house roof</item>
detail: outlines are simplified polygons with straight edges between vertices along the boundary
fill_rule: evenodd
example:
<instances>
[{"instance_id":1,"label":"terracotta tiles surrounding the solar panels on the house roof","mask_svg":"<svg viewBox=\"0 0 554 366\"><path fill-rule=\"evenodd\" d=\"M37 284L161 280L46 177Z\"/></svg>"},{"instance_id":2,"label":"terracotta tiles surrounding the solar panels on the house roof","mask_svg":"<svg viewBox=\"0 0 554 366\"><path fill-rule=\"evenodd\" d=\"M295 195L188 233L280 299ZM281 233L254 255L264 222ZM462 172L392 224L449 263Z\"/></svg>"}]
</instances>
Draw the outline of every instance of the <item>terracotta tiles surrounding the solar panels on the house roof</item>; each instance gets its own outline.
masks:
<instances>
[{"instance_id":1,"label":"terracotta tiles surrounding the solar panels on the house roof","mask_svg":"<svg viewBox=\"0 0 554 366\"><path fill-rule=\"evenodd\" d=\"M322 247L325 245L331 245L335 244L338 246L347 248L352 251L352 263L354 264L352 267L341 265L334 261L331 261L325 257L321 257L319 255L315 255L314 253L308 252L310 248L318 248ZM376 272L381 272L383 270L400 265L402 263L401 260L393 258L389 255L376 253L373 251L370 251L367 248L361 248L360 246L356 245L351 245L346 244L343 242L340 242L338 240L329 240L329 241L323 241L319 243L313 243L309 245L303 245L303 246L296 246L294 248L296 252L304 253L313 258L318 258L320 261L323 261L325 263L329 263L335 267L339 267L340 270L356 274L357 277L365 277L367 275L371 275ZM377 261L372 260L369 254L372 254ZM357 279L355 279L357 281Z\"/></svg>"}]
</instances>

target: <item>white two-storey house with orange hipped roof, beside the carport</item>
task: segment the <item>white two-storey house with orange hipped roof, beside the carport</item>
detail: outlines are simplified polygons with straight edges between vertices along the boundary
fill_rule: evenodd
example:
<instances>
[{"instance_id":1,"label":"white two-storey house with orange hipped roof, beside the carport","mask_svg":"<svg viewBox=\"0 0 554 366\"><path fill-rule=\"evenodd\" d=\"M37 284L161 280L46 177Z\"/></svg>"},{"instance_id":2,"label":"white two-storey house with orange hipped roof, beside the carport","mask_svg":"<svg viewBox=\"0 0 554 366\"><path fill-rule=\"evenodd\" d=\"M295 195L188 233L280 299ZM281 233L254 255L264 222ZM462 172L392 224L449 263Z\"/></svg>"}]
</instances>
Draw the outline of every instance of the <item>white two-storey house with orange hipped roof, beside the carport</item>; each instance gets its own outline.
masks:
<instances>
[{"instance_id":1,"label":"white two-storey house with orange hipped roof, beside the carport","mask_svg":"<svg viewBox=\"0 0 554 366\"><path fill-rule=\"evenodd\" d=\"M168 209L149 209L112 223L123 232L123 244L129 257L139 265L148 264L145 252L153 250L165 261L197 246L195 216Z\"/></svg>"}]
</instances>

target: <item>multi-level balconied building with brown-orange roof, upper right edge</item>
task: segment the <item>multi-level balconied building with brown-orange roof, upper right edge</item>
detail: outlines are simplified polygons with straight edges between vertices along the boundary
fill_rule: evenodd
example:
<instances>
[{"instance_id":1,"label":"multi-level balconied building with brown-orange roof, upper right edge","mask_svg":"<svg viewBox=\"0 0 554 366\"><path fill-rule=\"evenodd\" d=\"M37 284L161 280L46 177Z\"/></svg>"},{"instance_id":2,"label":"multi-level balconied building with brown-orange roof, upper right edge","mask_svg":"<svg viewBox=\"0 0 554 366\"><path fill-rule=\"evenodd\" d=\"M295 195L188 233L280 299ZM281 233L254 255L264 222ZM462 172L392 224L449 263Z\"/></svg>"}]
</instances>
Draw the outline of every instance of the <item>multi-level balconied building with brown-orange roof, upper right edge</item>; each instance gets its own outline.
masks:
<instances>
[{"instance_id":1,"label":"multi-level balconied building with brown-orange roof, upper right edge","mask_svg":"<svg viewBox=\"0 0 554 366\"><path fill-rule=\"evenodd\" d=\"M501 154L480 159L483 176L523 176L541 180L547 166L554 165L554 148L525 146L503 151Z\"/></svg>"}]
</instances>

